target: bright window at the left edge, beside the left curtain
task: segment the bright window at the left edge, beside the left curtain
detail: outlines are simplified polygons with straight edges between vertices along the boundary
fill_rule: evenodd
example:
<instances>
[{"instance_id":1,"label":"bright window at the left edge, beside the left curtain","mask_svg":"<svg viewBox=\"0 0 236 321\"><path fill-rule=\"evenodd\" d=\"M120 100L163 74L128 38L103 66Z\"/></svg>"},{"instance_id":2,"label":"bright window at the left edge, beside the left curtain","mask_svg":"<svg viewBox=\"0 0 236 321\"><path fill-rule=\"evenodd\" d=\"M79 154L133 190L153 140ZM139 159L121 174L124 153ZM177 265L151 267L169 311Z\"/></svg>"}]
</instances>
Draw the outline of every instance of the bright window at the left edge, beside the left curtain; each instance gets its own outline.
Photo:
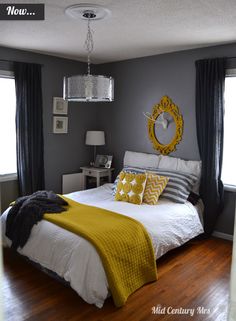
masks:
<instances>
[{"instance_id":1,"label":"bright window at the left edge, beside the left curtain","mask_svg":"<svg viewBox=\"0 0 236 321\"><path fill-rule=\"evenodd\" d=\"M17 171L15 114L14 75L0 70L0 177Z\"/></svg>"}]
</instances>

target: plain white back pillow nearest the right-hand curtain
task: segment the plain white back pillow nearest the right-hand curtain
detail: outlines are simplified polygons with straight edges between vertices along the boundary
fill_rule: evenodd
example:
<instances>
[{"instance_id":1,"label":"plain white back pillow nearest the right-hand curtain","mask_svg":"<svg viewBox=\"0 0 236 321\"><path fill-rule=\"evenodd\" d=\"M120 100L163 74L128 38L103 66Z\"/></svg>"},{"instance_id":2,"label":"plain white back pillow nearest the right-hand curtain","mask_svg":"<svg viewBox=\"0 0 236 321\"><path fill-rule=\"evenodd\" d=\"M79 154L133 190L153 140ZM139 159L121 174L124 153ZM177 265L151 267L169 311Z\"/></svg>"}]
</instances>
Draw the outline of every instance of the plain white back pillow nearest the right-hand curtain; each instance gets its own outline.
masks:
<instances>
[{"instance_id":1,"label":"plain white back pillow nearest the right-hand curtain","mask_svg":"<svg viewBox=\"0 0 236 321\"><path fill-rule=\"evenodd\" d=\"M170 157L170 156L160 156L159 162L160 169L175 170L186 174L194 174L197 176L198 180L193 186L192 191L199 194L200 180L201 180L201 161L186 161L181 158Z\"/></svg>"}]
</instances>

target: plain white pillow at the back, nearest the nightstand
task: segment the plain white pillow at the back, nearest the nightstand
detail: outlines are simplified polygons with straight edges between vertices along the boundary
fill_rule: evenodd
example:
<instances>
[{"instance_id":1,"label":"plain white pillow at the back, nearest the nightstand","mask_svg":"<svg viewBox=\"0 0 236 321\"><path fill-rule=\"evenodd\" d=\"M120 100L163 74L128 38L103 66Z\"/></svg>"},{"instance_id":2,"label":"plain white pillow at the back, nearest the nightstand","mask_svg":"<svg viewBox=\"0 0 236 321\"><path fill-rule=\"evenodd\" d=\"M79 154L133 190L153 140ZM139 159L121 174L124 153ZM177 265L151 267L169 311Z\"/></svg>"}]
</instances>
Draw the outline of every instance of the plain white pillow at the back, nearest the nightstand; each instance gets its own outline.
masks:
<instances>
[{"instance_id":1,"label":"plain white pillow at the back, nearest the nightstand","mask_svg":"<svg viewBox=\"0 0 236 321\"><path fill-rule=\"evenodd\" d=\"M159 161L160 155L155 154L126 151L124 156L124 166L157 168Z\"/></svg>"}]
</instances>

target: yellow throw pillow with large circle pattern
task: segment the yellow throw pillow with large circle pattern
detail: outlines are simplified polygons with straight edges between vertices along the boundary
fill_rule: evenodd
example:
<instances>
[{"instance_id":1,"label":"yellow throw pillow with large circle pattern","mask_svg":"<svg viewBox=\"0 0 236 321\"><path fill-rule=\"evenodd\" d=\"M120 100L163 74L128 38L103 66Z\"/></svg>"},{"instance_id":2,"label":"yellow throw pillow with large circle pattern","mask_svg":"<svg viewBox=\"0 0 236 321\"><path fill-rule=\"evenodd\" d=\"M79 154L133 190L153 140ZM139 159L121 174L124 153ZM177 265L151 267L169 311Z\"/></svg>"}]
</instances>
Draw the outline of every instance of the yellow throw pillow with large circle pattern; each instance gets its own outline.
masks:
<instances>
[{"instance_id":1,"label":"yellow throw pillow with large circle pattern","mask_svg":"<svg viewBox=\"0 0 236 321\"><path fill-rule=\"evenodd\" d=\"M115 201L142 204L147 174L120 172Z\"/></svg>"}]
</instances>

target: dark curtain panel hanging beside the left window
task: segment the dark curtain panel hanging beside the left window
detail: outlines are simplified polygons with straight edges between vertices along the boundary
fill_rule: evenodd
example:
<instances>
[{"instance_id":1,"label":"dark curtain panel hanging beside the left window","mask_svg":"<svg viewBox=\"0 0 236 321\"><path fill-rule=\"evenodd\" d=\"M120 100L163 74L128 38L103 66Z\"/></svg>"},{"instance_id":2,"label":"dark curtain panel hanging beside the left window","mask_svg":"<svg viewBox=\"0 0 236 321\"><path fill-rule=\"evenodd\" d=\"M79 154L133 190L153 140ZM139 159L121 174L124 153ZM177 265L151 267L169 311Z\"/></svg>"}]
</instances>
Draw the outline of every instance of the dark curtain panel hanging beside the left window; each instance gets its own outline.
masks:
<instances>
[{"instance_id":1,"label":"dark curtain panel hanging beside the left window","mask_svg":"<svg viewBox=\"0 0 236 321\"><path fill-rule=\"evenodd\" d=\"M20 195L44 189L41 66L14 63Z\"/></svg>"}]
</instances>

